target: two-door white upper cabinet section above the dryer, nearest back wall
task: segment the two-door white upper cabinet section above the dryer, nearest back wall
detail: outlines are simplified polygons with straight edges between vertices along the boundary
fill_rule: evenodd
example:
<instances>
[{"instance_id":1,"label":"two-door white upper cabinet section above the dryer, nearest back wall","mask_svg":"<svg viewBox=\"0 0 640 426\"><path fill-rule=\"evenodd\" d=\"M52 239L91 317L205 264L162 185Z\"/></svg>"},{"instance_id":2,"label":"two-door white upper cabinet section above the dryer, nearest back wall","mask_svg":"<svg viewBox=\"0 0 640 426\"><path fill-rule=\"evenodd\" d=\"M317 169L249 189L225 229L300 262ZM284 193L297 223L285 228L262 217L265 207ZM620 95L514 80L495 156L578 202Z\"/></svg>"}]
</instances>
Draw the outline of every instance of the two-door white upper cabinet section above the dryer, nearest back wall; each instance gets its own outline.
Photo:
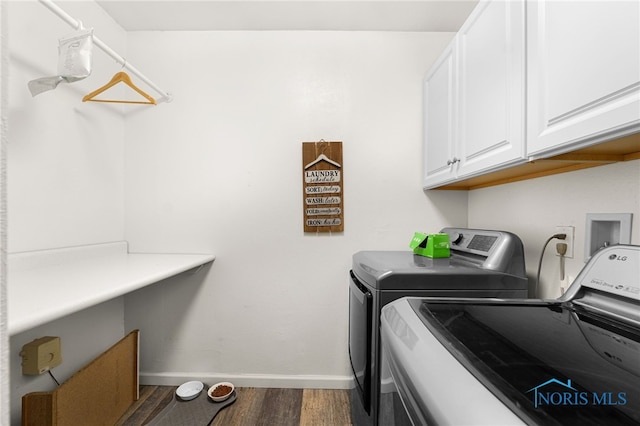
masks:
<instances>
[{"instance_id":1,"label":"two-door white upper cabinet section above the dryer, nearest back wall","mask_svg":"<svg viewBox=\"0 0 640 426\"><path fill-rule=\"evenodd\" d=\"M481 1L427 73L425 188L525 161L524 20L523 1Z\"/></svg>"}]
</instances>

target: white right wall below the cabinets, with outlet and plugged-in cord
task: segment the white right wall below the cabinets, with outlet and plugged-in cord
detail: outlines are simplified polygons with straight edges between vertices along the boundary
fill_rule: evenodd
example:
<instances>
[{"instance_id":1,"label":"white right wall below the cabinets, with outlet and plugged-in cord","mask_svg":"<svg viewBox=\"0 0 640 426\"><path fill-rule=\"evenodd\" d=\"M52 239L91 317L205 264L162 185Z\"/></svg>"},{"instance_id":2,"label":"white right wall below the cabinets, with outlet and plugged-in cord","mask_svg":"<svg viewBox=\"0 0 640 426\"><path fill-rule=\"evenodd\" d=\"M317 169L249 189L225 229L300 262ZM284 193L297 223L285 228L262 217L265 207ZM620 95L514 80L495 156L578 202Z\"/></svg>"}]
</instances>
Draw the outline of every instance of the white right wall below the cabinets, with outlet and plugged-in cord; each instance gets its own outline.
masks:
<instances>
[{"instance_id":1,"label":"white right wall below the cabinets, with outlet and plugged-in cord","mask_svg":"<svg viewBox=\"0 0 640 426\"><path fill-rule=\"evenodd\" d=\"M547 238L556 226L575 227L566 274L584 266L587 213L633 213L632 244L640 244L640 160L515 182L469 192L469 226L515 232L524 241L530 288ZM560 293L560 263L553 240L543 257L540 297Z\"/></svg>"}]
</instances>

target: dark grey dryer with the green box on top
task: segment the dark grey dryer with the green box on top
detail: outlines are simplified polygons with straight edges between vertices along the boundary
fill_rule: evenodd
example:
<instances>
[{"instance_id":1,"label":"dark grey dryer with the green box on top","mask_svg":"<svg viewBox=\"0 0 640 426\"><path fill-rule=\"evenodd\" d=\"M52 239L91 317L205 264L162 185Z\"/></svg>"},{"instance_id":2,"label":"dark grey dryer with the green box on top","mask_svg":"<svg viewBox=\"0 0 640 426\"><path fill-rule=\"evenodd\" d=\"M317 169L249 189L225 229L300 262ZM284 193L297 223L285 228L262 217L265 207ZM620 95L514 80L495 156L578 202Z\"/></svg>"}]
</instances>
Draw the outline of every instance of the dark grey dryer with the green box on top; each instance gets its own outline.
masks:
<instances>
[{"instance_id":1,"label":"dark grey dryer with the green box on top","mask_svg":"<svg viewBox=\"0 0 640 426\"><path fill-rule=\"evenodd\" d=\"M381 366L380 311L404 296L526 298L522 241L504 231L444 228L451 257L431 259L411 251L361 251L353 255L349 292L349 358L354 425L387 425L381 394L392 390Z\"/></svg>"}]
</instances>

